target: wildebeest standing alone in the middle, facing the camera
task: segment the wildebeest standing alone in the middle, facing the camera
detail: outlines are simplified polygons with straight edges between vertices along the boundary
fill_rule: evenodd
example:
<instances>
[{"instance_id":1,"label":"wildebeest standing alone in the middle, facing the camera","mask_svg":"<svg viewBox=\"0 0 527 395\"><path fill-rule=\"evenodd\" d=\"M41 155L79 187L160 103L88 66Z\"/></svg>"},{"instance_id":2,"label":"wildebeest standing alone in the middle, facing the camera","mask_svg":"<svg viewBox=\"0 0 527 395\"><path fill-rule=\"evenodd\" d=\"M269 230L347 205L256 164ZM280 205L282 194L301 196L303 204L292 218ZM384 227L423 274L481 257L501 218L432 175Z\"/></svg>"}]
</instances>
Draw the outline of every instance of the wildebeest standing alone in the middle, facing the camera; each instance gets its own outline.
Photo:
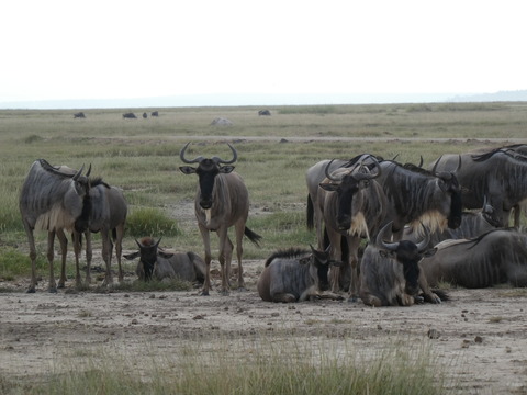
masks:
<instances>
[{"instance_id":1,"label":"wildebeest standing alone in the middle, facing the camera","mask_svg":"<svg viewBox=\"0 0 527 395\"><path fill-rule=\"evenodd\" d=\"M228 238L227 230L235 227L236 255L238 258L238 287L244 289L244 272L242 268L242 239L244 234L256 245L261 238L250 230L245 223L249 215L249 193L239 174L233 172L234 163L238 157L236 149L227 143L233 151L231 160L218 157L212 159L197 157L189 160L184 153L190 143L181 149L179 157L184 163L198 163L198 167L182 166L179 169L184 174L198 174L199 183L194 202L194 212L198 219L201 237L205 248L205 282L203 295L209 295L211 272L211 236L210 232L216 232L220 238L220 264L222 268L222 293L228 294L228 275L231 274L231 260L233 258L233 244ZM222 166L226 165L226 166Z\"/></svg>"}]
</instances>

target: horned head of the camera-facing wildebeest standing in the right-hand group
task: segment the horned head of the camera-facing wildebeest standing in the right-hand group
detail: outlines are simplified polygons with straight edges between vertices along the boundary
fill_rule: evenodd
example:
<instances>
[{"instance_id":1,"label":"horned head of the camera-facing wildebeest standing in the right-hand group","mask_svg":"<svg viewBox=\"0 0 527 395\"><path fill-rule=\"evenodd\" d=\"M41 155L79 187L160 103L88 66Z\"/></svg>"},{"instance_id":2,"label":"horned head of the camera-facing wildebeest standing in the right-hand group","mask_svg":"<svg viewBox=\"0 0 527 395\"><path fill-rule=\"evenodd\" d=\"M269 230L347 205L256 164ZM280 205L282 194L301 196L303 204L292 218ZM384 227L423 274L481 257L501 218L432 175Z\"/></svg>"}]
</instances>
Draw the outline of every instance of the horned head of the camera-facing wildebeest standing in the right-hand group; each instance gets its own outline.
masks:
<instances>
[{"instance_id":1,"label":"horned head of the camera-facing wildebeest standing in the right-hand group","mask_svg":"<svg viewBox=\"0 0 527 395\"><path fill-rule=\"evenodd\" d=\"M381 167L375 158L372 160L372 169L359 165L358 169L337 169L336 173L329 173L328 169L333 162L329 161L325 168L326 178L329 183L322 182L319 187L328 192L337 193L337 226L340 230L351 227L351 219L362 207L363 195L359 192L370 185L370 181L381 176Z\"/></svg>"}]
</instances>

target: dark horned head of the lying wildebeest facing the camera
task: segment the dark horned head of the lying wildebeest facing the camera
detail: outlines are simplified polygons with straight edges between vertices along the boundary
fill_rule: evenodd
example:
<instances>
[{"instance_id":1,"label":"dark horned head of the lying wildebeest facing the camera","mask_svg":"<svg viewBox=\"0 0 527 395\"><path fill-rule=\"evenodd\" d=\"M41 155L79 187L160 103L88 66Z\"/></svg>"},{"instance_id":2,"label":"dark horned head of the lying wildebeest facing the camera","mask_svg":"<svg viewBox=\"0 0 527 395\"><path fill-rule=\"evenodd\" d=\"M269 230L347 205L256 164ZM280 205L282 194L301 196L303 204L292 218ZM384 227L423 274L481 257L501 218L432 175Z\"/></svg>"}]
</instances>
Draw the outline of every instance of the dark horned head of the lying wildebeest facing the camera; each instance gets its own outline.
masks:
<instances>
[{"instance_id":1,"label":"dark horned head of the lying wildebeest facing the camera","mask_svg":"<svg viewBox=\"0 0 527 395\"><path fill-rule=\"evenodd\" d=\"M408 295L417 296L419 292L419 261L424 257L431 257L436 253L437 248L427 249L430 241L430 234L425 227L425 237L419 242L415 244L410 240L401 240L397 242L386 242L388 229L391 228L392 223L388 223L377 236L377 246L379 253L384 258L394 259L397 263L403 266L403 275L405 280L405 292Z\"/></svg>"}]
</instances>

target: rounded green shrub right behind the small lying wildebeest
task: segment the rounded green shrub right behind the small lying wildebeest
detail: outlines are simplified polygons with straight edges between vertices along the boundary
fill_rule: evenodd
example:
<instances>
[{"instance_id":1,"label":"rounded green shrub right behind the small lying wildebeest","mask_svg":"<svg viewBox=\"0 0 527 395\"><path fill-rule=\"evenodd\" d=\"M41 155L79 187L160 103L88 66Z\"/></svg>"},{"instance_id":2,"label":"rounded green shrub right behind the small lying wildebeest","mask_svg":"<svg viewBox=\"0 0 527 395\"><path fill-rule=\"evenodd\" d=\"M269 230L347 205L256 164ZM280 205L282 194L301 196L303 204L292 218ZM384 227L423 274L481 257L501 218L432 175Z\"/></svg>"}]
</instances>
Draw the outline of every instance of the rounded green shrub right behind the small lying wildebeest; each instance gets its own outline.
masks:
<instances>
[{"instance_id":1,"label":"rounded green shrub right behind the small lying wildebeest","mask_svg":"<svg viewBox=\"0 0 527 395\"><path fill-rule=\"evenodd\" d=\"M175 219L168 218L158 208L137 208L126 219L127 232L133 237L178 236L180 229Z\"/></svg>"}]
</instances>

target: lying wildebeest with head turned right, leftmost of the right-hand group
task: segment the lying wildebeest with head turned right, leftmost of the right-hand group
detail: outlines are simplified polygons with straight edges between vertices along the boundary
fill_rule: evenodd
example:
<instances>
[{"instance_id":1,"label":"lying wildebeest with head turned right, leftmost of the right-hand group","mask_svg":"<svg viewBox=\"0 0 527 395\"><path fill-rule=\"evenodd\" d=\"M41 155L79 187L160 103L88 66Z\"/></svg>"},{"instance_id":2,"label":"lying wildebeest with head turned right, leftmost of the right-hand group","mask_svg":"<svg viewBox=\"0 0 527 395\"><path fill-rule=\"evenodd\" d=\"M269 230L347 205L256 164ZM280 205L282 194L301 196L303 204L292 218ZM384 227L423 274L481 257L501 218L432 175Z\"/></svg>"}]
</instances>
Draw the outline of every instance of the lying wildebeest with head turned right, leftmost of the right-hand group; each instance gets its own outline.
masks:
<instances>
[{"instance_id":1,"label":"lying wildebeest with head turned right, leftmost of the right-hand group","mask_svg":"<svg viewBox=\"0 0 527 395\"><path fill-rule=\"evenodd\" d=\"M321 296L327 290L329 266L340 262L329 260L329 248L311 252L303 249L289 249L272 253L266 260L257 289L266 302L302 302Z\"/></svg>"}]
</instances>

